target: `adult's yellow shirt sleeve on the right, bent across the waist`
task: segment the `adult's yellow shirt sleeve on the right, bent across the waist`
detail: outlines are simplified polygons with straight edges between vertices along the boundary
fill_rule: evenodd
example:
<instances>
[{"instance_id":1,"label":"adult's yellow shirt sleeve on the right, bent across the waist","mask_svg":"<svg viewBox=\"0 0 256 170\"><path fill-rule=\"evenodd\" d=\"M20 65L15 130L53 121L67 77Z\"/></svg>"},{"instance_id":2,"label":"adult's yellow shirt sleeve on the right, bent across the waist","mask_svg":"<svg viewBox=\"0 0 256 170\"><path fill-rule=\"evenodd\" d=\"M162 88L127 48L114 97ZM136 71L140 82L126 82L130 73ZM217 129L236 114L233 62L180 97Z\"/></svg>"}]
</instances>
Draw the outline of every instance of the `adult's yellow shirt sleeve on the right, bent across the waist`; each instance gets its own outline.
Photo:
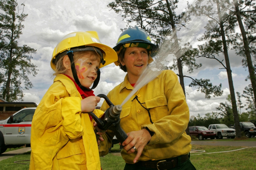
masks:
<instances>
[{"instance_id":1,"label":"adult's yellow shirt sleeve on the right, bent across the waist","mask_svg":"<svg viewBox=\"0 0 256 170\"><path fill-rule=\"evenodd\" d=\"M168 70L163 81L168 116L142 127L155 132L148 145L174 141L184 133L189 123L189 108L177 75Z\"/></svg>"}]
</instances>

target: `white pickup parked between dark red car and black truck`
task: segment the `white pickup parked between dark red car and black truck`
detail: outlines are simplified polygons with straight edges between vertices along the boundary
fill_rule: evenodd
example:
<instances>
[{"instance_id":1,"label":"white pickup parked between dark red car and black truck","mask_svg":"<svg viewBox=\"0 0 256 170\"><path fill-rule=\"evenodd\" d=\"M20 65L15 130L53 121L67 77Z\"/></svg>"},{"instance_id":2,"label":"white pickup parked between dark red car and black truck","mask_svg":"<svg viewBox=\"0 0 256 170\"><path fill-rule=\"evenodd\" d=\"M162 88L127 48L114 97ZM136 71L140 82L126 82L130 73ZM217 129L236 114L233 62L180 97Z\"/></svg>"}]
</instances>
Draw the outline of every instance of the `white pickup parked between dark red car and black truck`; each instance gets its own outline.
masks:
<instances>
[{"instance_id":1,"label":"white pickup parked between dark red car and black truck","mask_svg":"<svg viewBox=\"0 0 256 170\"><path fill-rule=\"evenodd\" d=\"M222 139L223 137L235 138L235 129L231 129L225 124L209 125L208 129L216 133L216 139Z\"/></svg>"}]
</instances>

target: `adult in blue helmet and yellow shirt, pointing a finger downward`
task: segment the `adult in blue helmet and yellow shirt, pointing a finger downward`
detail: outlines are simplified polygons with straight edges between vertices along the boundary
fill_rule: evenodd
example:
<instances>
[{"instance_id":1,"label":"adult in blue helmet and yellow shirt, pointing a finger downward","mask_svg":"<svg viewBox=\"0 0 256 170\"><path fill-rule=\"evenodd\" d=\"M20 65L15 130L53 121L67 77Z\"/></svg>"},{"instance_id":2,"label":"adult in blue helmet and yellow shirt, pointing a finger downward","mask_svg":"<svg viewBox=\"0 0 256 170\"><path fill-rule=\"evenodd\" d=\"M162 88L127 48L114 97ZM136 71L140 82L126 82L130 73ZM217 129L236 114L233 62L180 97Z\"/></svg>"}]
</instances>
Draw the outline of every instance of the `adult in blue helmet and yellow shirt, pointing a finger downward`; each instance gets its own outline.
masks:
<instances>
[{"instance_id":1,"label":"adult in blue helmet and yellow shirt, pointing a finger downward","mask_svg":"<svg viewBox=\"0 0 256 170\"><path fill-rule=\"evenodd\" d=\"M121 33L113 49L118 54L115 64L127 72L124 81L107 95L118 105L133 90L142 70L153 61L151 56L155 55L156 45L151 43L147 32L135 26ZM103 102L101 110L108 107ZM120 118L121 128L128 135L121 144L125 170L195 169L188 155L191 138L185 132L189 108L173 71L162 71L140 88L122 106ZM112 131L106 134L110 138L114 136ZM104 155L109 145L101 143L100 154Z\"/></svg>"}]
</instances>

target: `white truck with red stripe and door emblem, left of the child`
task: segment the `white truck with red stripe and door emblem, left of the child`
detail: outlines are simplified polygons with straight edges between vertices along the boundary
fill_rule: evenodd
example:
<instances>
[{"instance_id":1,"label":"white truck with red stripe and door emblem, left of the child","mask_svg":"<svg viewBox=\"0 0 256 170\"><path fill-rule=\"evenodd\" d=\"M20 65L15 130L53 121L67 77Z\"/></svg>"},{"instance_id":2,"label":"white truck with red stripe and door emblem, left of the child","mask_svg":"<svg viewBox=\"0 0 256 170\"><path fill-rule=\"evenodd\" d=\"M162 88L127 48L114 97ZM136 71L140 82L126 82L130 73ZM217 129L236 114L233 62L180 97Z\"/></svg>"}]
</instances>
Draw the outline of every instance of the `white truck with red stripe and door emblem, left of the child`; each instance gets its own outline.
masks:
<instances>
[{"instance_id":1,"label":"white truck with red stripe and door emblem, left of the child","mask_svg":"<svg viewBox=\"0 0 256 170\"><path fill-rule=\"evenodd\" d=\"M0 120L0 154L7 148L30 145L31 122L35 109L24 108L6 120Z\"/></svg>"}]
</instances>

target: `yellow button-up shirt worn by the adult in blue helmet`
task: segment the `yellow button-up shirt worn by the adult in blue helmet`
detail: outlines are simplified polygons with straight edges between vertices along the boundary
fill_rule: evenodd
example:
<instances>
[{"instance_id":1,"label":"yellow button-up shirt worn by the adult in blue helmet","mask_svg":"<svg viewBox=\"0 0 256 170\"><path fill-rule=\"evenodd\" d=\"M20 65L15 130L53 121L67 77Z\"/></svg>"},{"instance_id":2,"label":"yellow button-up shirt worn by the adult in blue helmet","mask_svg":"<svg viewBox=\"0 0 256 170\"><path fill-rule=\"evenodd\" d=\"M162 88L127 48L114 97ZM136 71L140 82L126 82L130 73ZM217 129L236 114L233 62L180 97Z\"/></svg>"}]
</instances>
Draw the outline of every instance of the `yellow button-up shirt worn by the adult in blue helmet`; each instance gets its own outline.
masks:
<instances>
[{"instance_id":1,"label":"yellow button-up shirt worn by the adult in blue helmet","mask_svg":"<svg viewBox=\"0 0 256 170\"><path fill-rule=\"evenodd\" d=\"M118 105L131 90L133 87L126 75L124 81L107 96L114 105ZM137 100L133 100L135 95L141 103L144 103L142 105L149 109L153 124L150 123L147 110ZM108 107L104 101L101 110L105 111ZM123 105L120 118L121 128L126 133L145 127L155 132L149 144L145 146L139 161L172 158L187 154L191 150L191 138L185 132L189 122L189 108L178 77L173 71L162 71L157 78L139 89ZM107 134L110 138L114 136L112 131L107 131ZM105 138L105 140L108 139ZM108 151L107 147L110 146L109 143L104 142L101 142L99 150L101 155L105 155ZM132 154L127 154L124 149L121 151L126 163L132 164L136 154L137 151Z\"/></svg>"}]
</instances>

